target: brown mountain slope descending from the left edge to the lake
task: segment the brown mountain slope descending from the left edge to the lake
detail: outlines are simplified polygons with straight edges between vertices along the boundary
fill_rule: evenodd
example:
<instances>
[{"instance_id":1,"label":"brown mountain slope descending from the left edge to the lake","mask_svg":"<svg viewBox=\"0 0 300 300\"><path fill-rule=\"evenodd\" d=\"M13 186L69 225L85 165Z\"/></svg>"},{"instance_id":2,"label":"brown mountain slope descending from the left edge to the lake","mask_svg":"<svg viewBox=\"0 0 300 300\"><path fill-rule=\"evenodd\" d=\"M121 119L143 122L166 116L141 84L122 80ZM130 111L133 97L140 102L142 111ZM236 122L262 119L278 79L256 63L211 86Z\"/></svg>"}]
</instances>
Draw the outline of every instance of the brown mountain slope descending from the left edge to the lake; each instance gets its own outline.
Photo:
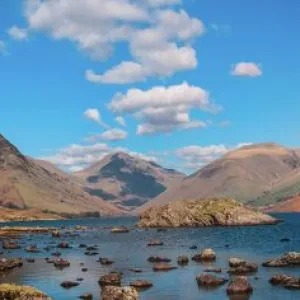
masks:
<instances>
[{"instance_id":1,"label":"brown mountain slope descending from the left edge to the lake","mask_svg":"<svg viewBox=\"0 0 300 300\"><path fill-rule=\"evenodd\" d=\"M1 134L0 205L68 215L120 214L118 208L84 192L69 174L24 156Z\"/></svg>"}]
</instances>

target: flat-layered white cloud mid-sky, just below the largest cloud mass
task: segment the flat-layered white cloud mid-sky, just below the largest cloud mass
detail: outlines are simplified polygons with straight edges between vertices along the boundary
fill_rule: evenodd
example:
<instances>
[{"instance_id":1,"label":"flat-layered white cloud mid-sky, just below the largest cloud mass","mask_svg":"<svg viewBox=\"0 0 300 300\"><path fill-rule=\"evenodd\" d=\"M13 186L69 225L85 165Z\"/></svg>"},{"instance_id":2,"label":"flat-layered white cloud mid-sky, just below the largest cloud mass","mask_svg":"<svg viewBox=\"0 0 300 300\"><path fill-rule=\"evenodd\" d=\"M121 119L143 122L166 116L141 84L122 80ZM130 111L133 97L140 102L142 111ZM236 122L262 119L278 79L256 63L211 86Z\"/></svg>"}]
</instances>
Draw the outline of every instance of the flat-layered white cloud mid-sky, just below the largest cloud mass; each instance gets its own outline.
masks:
<instances>
[{"instance_id":1,"label":"flat-layered white cloud mid-sky, just below the largest cloud mass","mask_svg":"<svg viewBox=\"0 0 300 300\"><path fill-rule=\"evenodd\" d=\"M139 120L137 134L171 132L179 129L205 127L201 120L191 120L191 109L217 111L207 91L184 82L170 87L153 87L149 90L130 89L116 94L109 103L116 114L131 114Z\"/></svg>"}]
</instances>

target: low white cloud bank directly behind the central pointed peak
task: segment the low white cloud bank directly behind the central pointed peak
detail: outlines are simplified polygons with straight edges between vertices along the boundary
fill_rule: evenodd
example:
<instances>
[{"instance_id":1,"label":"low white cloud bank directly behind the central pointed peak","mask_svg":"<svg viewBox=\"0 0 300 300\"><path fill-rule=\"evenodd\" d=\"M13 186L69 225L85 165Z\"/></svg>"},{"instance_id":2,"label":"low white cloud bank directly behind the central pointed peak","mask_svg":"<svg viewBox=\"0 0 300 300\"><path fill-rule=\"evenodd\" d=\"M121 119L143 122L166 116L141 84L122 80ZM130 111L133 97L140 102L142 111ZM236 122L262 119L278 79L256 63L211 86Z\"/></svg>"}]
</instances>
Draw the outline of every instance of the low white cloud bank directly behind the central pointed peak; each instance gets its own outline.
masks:
<instances>
[{"instance_id":1,"label":"low white cloud bank directly behind the central pointed peak","mask_svg":"<svg viewBox=\"0 0 300 300\"><path fill-rule=\"evenodd\" d=\"M100 161L109 154L120 151L148 161L156 160L153 156L137 153L127 148L109 147L105 143L93 145L72 144L66 148L59 149L53 155L44 156L40 159L47 160L69 171L79 171Z\"/></svg>"}]
</instances>

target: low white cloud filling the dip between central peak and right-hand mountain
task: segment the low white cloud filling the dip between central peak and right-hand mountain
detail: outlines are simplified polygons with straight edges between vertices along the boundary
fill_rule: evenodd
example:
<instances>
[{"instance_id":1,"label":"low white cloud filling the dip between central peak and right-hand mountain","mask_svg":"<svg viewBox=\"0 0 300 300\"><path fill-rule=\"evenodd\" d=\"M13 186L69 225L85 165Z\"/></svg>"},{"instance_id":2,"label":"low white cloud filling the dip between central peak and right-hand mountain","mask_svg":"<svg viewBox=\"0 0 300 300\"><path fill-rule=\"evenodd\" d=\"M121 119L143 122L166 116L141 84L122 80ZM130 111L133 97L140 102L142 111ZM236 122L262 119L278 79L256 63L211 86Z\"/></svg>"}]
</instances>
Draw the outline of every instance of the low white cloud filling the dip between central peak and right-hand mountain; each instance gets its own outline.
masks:
<instances>
[{"instance_id":1,"label":"low white cloud filling the dip between central peak and right-hand mountain","mask_svg":"<svg viewBox=\"0 0 300 300\"><path fill-rule=\"evenodd\" d=\"M223 156L229 151L251 144L252 143L239 143L235 146L225 146L223 144L209 146L191 145L177 149L175 151L175 156L181 159L184 168L196 170Z\"/></svg>"}]
</instances>

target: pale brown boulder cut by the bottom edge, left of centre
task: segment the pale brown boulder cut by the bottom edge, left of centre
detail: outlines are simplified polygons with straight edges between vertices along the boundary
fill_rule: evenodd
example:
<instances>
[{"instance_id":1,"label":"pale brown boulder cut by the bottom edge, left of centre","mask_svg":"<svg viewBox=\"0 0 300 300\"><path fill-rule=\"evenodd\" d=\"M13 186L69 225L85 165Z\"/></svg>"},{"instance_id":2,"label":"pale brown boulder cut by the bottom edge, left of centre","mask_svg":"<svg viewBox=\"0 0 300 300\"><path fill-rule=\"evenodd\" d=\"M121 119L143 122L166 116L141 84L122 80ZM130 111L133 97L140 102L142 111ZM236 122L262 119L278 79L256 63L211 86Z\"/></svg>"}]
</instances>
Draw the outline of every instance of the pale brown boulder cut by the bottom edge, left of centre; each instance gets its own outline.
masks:
<instances>
[{"instance_id":1,"label":"pale brown boulder cut by the bottom edge, left of centre","mask_svg":"<svg viewBox=\"0 0 300 300\"><path fill-rule=\"evenodd\" d=\"M105 286L102 289L102 300L139 300L139 294L134 287Z\"/></svg>"}]
</instances>

